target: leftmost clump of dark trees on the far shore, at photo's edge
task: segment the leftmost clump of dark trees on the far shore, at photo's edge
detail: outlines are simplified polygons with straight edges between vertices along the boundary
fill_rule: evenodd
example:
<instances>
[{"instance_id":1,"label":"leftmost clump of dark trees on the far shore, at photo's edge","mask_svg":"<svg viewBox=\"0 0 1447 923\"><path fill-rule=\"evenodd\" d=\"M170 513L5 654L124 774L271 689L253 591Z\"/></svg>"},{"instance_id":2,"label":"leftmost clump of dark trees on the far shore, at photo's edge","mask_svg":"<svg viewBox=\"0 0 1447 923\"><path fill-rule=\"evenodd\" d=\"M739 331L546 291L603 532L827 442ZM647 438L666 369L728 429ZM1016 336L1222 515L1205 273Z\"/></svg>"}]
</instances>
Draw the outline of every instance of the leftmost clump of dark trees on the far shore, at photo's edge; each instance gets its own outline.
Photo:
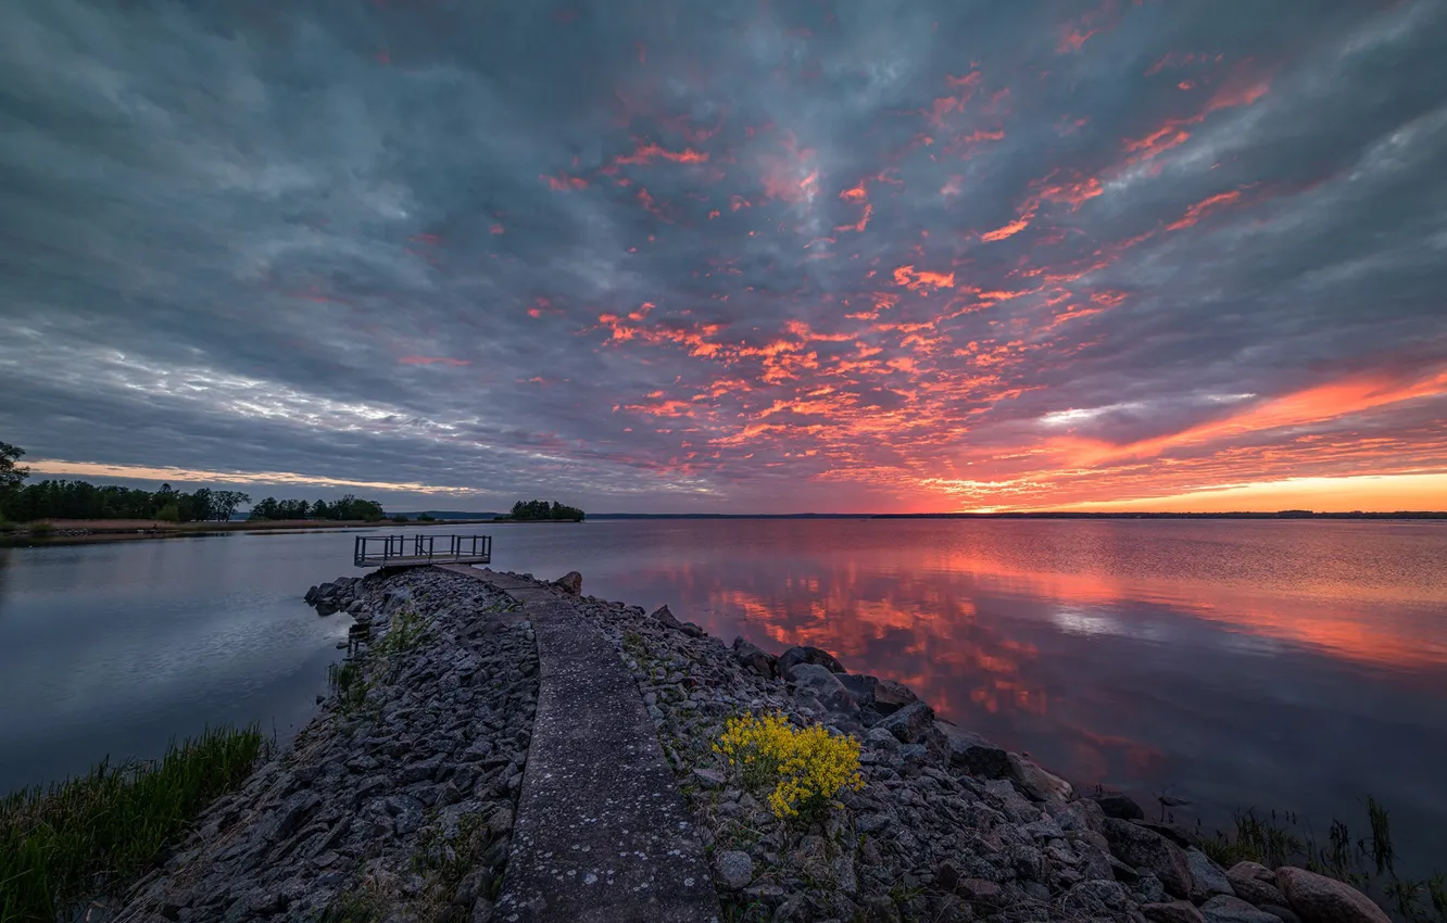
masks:
<instances>
[{"instance_id":1,"label":"leftmost clump of dark trees on the far shore, at photo's edge","mask_svg":"<svg viewBox=\"0 0 1447 923\"><path fill-rule=\"evenodd\" d=\"M162 522L226 521L252 498L239 490L197 488L191 493L161 485L139 490L84 480L42 480L17 486L4 496L4 518L35 519L159 519Z\"/></svg>"}]
</instances>

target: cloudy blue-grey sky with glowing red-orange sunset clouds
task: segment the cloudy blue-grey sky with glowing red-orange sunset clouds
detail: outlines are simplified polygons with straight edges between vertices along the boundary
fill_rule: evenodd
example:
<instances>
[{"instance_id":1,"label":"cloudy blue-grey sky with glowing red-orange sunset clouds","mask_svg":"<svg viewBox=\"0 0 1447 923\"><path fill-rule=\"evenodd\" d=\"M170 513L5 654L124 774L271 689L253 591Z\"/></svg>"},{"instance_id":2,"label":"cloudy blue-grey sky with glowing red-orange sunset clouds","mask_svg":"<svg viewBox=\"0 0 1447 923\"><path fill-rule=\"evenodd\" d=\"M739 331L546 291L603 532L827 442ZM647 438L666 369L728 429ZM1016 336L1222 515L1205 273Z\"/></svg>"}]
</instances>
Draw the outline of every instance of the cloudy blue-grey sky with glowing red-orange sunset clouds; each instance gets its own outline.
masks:
<instances>
[{"instance_id":1,"label":"cloudy blue-grey sky with glowing red-orange sunset clouds","mask_svg":"<svg viewBox=\"0 0 1447 923\"><path fill-rule=\"evenodd\" d=\"M1443 0L12 0L0 440L392 509L1444 509L1443 48Z\"/></svg>"}]
</instances>

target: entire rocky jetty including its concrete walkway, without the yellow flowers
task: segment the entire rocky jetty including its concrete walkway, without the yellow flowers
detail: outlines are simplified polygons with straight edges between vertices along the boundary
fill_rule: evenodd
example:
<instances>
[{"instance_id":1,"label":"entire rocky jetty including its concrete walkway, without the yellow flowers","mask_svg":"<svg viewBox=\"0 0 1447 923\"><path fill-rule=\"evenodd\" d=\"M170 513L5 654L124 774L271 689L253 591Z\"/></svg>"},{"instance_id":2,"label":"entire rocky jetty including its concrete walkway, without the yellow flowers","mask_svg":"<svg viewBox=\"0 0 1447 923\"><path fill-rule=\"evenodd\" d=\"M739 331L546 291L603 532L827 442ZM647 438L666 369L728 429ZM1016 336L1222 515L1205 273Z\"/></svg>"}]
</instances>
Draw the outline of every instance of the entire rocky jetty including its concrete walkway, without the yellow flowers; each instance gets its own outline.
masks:
<instances>
[{"instance_id":1,"label":"entire rocky jetty including its concrete walkway, without the yellow flowers","mask_svg":"<svg viewBox=\"0 0 1447 923\"><path fill-rule=\"evenodd\" d=\"M1305 869L1221 868L828 651L725 644L576 573L433 567L308 602L356 619L333 694L114 919L1388 919ZM713 749L745 712L854 736L862 787L778 820Z\"/></svg>"}]
</instances>

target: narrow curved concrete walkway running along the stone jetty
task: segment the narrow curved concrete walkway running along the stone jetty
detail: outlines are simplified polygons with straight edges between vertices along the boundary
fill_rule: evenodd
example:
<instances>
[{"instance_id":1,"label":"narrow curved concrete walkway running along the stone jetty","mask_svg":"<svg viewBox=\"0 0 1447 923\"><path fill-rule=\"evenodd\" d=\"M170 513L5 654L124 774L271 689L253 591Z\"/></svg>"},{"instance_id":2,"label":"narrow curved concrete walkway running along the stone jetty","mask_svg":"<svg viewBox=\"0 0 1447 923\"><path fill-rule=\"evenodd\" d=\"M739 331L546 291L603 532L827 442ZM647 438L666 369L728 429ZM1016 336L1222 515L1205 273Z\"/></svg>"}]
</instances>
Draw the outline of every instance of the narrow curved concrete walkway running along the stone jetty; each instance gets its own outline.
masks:
<instances>
[{"instance_id":1,"label":"narrow curved concrete walkway running along the stone jetty","mask_svg":"<svg viewBox=\"0 0 1447 923\"><path fill-rule=\"evenodd\" d=\"M475 567L524 603L538 710L496 919L706 923L708 859L614 644L561 590Z\"/></svg>"}]
</instances>

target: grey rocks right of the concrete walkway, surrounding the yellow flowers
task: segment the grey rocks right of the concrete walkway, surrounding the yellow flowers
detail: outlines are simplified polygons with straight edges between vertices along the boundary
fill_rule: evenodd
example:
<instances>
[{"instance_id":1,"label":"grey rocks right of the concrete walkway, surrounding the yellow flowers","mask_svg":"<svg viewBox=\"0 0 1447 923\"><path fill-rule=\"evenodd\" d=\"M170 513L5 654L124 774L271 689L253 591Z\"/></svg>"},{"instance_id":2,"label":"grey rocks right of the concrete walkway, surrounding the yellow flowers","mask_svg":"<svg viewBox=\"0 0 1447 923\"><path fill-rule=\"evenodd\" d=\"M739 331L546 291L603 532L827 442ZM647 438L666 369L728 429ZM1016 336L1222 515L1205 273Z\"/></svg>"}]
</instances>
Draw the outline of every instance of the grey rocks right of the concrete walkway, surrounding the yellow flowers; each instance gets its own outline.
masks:
<instances>
[{"instance_id":1,"label":"grey rocks right of the concrete walkway, surrounding the yellow flowers","mask_svg":"<svg viewBox=\"0 0 1447 923\"><path fill-rule=\"evenodd\" d=\"M725 645L663 608L579 600L632 671L712 855L731 920L1382 923L1346 884L1223 869L1195 832L1069 783L829 652ZM715 748L731 716L781 713L861 744L862 788L822 823L780 820Z\"/></svg>"}]
</instances>

